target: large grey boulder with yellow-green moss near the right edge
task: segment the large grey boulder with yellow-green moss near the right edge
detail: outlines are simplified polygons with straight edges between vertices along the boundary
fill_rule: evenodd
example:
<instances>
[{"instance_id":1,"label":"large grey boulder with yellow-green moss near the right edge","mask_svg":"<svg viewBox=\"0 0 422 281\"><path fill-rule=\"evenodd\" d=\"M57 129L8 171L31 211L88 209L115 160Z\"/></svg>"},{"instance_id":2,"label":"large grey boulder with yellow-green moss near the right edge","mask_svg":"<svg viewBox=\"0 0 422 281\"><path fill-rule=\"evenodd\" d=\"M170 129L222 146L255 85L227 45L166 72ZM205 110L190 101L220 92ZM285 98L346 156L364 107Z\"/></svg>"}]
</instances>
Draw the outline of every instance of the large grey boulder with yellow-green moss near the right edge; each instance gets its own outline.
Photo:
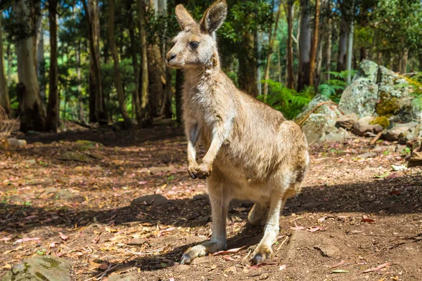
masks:
<instances>
[{"instance_id":1,"label":"large grey boulder with yellow-green moss near the right edge","mask_svg":"<svg viewBox=\"0 0 422 281\"><path fill-rule=\"evenodd\" d=\"M380 66L378 74L378 103L376 114L389 117L390 121L411 122L421 117L421 110L414 100L413 89L400 74Z\"/></svg>"}]
</instances>

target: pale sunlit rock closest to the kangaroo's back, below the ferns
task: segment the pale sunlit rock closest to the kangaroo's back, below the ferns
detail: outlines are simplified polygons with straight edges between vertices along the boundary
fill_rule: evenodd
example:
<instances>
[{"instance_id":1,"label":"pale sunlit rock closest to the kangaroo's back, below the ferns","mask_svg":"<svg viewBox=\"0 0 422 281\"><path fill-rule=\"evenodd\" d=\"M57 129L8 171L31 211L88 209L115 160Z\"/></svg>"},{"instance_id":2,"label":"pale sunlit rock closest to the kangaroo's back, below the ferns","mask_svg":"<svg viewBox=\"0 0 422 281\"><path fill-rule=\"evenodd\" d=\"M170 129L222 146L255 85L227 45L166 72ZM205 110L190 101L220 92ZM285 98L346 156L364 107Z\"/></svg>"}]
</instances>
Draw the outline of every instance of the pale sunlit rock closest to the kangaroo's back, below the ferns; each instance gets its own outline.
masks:
<instances>
[{"instance_id":1,"label":"pale sunlit rock closest to the kangaroo's back, below the ferns","mask_svg":"<svg viewBox=\"0 0 422 281\"><path fill-rule=\"evenodd\" d=\"M311 102L304 107L302 113L297 117L297 120L304 119L317 105L326 101L330 101L330 99L326 96L317 94ZM335 120L340 116L340 111L338 111L336 106L333 104L324 104L317 107L302 124L302 131L305 133L308 143L324 142L326 141L326 136L330 133L333 133L328 136L331 140L338 140L341 136L345 136L343 132L338 131L338 128L335 127ZM333 136L337 133L340 134ZM343 133L343 135L341 133Z\"/></svg>"}]
</instances>

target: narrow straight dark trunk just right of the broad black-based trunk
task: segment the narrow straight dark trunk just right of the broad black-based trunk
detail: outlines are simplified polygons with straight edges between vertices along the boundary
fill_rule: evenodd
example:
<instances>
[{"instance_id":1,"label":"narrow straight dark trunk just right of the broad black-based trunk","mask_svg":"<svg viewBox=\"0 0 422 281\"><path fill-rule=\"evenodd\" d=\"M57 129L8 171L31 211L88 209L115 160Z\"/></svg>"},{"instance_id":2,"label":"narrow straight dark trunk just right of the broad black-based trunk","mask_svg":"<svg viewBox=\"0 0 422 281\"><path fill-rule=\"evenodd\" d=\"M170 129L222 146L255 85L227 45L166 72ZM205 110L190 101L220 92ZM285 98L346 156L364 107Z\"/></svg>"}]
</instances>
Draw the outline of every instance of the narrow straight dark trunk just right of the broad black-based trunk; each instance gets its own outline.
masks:
<instances>
[{"instance_id":1,"label":"narrow straight dark trunk just right of the broad black-based trunk","mask_svg":"<svg viewBox=\"0 0 422 281\"><path fill-rule=\"evenodd\" d=\"M50 25L50 71L49 71L49 104L47 105L46 129L57 131L59 119L59 98L57 78L57 0L49 0L49 25Z\"/></svg>"}]
</instances>

